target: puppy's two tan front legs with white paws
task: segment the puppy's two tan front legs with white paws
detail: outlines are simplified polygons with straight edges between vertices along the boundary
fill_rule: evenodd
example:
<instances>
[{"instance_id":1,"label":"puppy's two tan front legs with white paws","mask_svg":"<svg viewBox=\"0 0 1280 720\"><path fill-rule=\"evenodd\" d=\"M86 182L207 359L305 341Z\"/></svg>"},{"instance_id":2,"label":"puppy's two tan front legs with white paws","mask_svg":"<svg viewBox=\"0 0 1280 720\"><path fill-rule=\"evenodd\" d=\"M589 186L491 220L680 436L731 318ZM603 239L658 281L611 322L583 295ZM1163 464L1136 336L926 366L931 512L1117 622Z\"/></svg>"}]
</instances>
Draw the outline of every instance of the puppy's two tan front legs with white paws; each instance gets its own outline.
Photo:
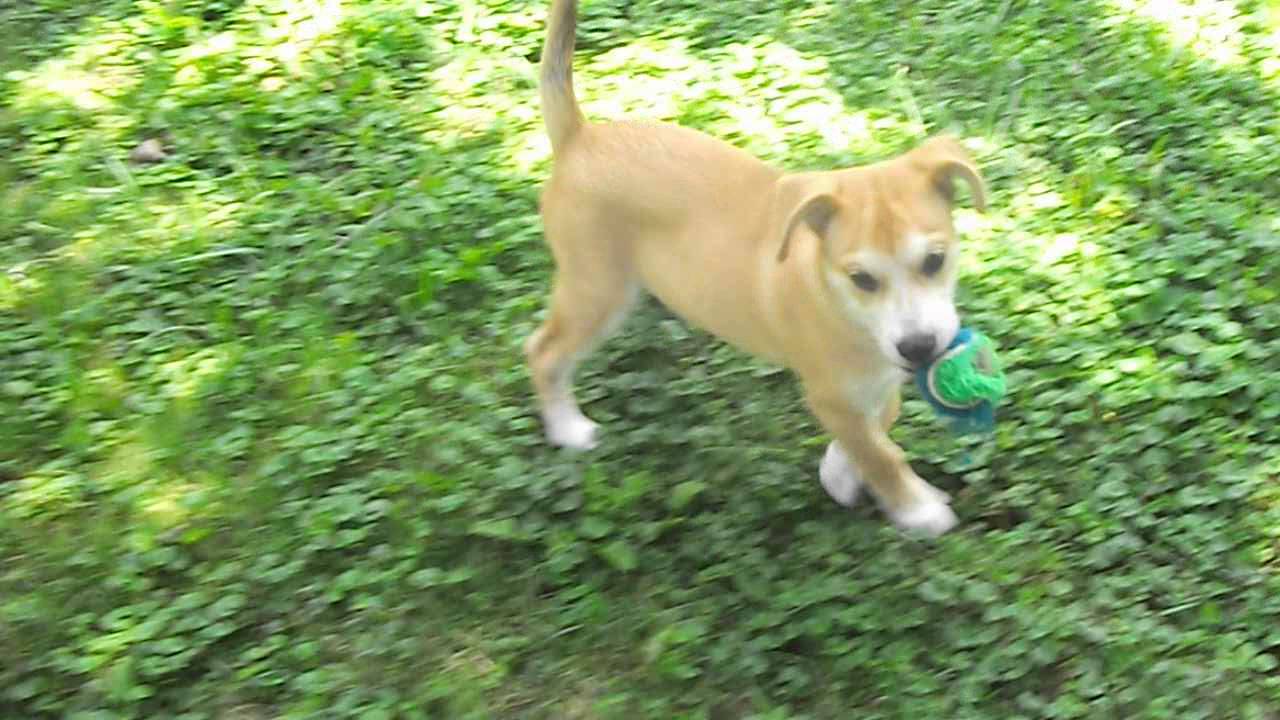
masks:
<instances>
[{"instance_id":1,"label":"puppy's two tan front legs with white paws","mask_svg":"<svg viewBox=\"0 0 1280 720\"><path fill-rule=\"evenodd\" d=\"M809 407L833 436L819 477L832 498L851 505L860 482L900 528L940 536L956 524L950 497L908 465L884 430L883 410L868 414L841 393L809 392Z\"/></svg>"}]
</instances>

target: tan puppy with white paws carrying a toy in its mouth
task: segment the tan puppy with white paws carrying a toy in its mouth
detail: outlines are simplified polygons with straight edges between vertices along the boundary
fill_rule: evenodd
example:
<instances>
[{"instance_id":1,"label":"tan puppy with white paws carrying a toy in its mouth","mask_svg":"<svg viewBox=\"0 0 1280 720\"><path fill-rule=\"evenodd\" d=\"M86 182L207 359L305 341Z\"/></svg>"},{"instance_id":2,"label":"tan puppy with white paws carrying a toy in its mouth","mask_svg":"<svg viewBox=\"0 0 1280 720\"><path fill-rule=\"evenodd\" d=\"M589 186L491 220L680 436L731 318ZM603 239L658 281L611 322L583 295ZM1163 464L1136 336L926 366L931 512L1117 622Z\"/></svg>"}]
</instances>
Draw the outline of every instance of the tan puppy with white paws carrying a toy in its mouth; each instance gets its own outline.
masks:
<instances>
[{"instance_id":1,"label":"tan puppy with white paws carrying a toy in its mouth","mask_svg":"<svg viewBox=\"0 0 1280 720\"><path fill-rule=\"evenodd\" d=\"M794 370L835 437L823 487L863 483L901 528L941 534L950 498L888 438L906 370L959 328L952 181L983 182L934 138L895 159L783 174L707 135L662 123L589 124L573 95L577 3L553 0L541 99L554 169L541 200L556 278L525 352L547 437L596 443L571 388L579 360L644 290L735 346Z\"/></svg>"}]
</instances>

